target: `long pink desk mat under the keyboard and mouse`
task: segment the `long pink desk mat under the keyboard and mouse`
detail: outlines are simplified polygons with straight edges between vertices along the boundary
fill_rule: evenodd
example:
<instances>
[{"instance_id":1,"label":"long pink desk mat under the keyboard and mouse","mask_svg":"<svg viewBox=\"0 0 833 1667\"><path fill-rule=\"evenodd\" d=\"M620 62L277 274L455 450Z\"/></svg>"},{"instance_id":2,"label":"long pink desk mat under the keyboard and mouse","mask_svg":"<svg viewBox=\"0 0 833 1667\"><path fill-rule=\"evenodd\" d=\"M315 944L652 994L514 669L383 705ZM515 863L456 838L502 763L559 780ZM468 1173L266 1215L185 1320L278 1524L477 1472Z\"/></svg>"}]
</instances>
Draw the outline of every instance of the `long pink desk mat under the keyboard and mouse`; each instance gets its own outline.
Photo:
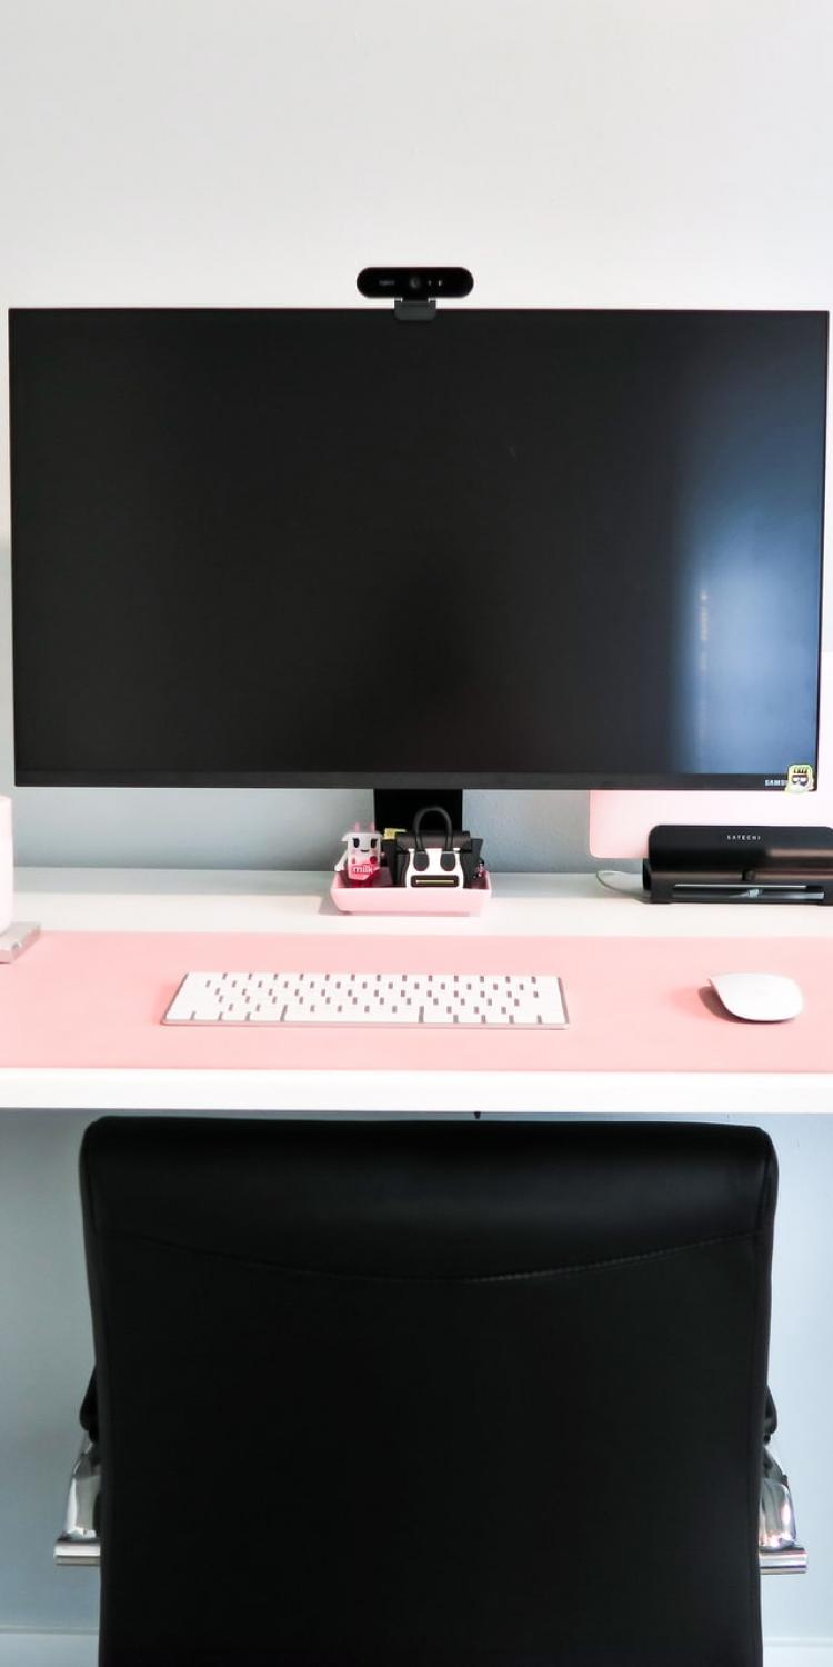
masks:
<instances>
[{"instance_id":1,"label":"long pink desk mat under the keyboard and mouse","mask_svg":"<svg viewBox=\"0 0 833 1667\"><path fill-rule=\"evenodd\" d=\"M548 972L568 1030L177 1029L188 970ZM723 1017L713 972L781 972L786 1024ZM48 932L0 967L0 1069L833 1072L833 944L773 939L292 937Z\"/></svg>"}]
</instances>

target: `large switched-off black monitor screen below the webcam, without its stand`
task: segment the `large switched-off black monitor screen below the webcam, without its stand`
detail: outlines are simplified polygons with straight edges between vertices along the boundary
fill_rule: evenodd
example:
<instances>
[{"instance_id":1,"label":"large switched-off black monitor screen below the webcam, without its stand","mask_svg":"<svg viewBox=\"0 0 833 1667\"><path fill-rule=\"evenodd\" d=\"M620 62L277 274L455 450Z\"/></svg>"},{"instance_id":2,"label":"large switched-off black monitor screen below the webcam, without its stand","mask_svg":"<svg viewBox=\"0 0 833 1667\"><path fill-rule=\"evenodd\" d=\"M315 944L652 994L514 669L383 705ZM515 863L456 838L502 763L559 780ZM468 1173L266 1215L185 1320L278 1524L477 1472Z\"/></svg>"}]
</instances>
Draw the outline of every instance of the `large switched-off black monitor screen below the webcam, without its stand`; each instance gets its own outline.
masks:
<instances>
[{"instance_id":1,"label":"large switched-off black monitor screen below the webcam, without its stand","mask_svg":"<svg viewBox=\"0 0 833 1667\"><path fill-rule=\"evenodd\" d=\"M826 313L10 335L18 783L816 770Z\"/></svg>"}]
</instances>

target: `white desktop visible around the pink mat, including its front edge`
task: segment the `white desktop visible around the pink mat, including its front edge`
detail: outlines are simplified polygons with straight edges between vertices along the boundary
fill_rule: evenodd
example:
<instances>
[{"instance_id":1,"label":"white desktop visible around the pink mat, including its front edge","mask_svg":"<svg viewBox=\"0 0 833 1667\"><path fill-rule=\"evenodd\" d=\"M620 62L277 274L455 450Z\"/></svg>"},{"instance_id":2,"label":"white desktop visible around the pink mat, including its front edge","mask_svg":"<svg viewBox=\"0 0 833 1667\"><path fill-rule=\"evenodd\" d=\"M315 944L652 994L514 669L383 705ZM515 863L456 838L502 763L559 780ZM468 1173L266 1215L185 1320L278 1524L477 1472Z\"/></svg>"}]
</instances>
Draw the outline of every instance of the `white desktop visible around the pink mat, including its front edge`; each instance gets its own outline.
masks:
<instances>
[{"instance_id":1,"label":"white desktop visible around the pink mat, including its front edge","mask_svg":"<svg viewBox=\"0 0 833 1667\"><path fill-rule=\"evenodd\" d=\"M340 915L327 874L18 869L15 919L52 932L450 934L476 939L778 937L831 940L833 909L666 905L605 890L595 875L493 875L476 919ZM833 967L833 960L831 960ZM0 1107L205 1112L768 1114L833 1110L830 1074L0 1070Z\"/></svg>"}]
</instances>

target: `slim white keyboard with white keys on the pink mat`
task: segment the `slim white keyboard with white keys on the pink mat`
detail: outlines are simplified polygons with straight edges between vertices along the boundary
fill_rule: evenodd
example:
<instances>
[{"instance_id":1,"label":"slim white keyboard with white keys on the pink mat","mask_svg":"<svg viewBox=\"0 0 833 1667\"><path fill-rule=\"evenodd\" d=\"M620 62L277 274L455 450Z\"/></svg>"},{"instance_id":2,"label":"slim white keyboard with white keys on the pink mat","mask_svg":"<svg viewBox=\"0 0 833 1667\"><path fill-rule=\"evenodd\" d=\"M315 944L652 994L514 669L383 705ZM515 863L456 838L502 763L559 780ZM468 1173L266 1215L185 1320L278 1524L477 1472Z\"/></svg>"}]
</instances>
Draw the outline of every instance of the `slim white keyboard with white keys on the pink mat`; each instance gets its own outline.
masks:
<instances>
[{"instance_id":1,"label":"slim white keyboard with white keys on the pink mat","mask_svg":"<svg viewBox=\"0 0 833 1667\"><path fill-rule=\"evenodd\" d=\"M561 980L473 972L188 972L165 1025L566 1025Z\"/></svg>"}]
</instances>

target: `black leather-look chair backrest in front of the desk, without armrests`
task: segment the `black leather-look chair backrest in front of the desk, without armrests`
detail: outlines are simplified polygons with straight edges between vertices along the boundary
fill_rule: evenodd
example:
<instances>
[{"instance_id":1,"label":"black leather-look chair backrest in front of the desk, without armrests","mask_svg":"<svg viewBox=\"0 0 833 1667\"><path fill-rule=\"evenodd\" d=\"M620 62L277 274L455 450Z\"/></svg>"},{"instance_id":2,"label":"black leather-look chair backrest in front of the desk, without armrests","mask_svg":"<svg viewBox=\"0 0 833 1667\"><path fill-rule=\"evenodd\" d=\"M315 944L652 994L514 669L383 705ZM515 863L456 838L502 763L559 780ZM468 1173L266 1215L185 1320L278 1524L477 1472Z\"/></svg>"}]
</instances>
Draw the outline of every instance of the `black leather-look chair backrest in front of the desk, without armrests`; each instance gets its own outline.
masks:
<instances>
[{"instance_id":1,"label":"black leather-look chair backrest in front of the desk, without armrests","mask_svg":"<svg viewBox=\"0 0 833 1667\"><path fill-rule=\"evenodd\" d=\"M756 1129L117 1119L102 1667L760 1667Z\"/></svg>"}]
</instances>

